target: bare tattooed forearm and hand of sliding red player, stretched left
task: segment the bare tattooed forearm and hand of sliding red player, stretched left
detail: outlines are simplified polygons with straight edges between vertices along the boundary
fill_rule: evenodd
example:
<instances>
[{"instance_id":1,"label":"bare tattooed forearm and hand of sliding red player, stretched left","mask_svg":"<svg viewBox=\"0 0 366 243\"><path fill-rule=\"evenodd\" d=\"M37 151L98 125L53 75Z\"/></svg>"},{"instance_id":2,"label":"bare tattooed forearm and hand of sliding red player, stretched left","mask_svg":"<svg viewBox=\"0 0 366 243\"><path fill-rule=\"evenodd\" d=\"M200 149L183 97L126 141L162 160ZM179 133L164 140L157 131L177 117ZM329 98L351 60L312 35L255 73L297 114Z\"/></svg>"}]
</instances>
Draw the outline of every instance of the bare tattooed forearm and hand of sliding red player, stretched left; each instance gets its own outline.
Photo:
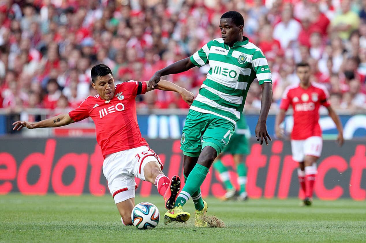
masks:
<instances>
[{"instance_id":1,"label":"bare tattooed forearm and hand of sliding red player, stretched left","mask_svg":"<svg viewBox=\"0 0 366 243\"><path fill-rule=\"evenodd\" d=\"M29 122L29 121L15 121L13 123L13 130L19 131L23 127L28 129L41 128L41 127L61 127L66 126L70 123L73 123L74 120L68 114L60 114L58 116L41 120L38 122Z\"/></svg>"}]
</instances>

